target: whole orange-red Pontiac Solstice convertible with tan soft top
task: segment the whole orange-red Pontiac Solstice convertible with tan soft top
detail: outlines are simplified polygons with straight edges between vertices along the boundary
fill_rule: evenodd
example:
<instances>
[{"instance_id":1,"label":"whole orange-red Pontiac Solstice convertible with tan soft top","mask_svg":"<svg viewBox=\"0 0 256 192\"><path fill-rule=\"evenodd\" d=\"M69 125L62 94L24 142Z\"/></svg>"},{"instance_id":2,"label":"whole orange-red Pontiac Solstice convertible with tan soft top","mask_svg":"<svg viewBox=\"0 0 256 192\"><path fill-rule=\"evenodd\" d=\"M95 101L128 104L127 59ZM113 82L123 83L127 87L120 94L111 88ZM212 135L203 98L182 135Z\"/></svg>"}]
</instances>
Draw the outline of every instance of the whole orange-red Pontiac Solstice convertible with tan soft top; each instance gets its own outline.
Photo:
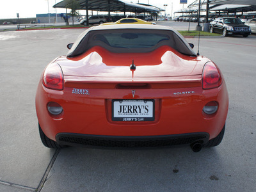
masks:
<instances>
[{"instance_id":1,"label":"whole orange-red Pontiac Solstice convertible with tan soft top","mask_svg":"<svg viewBox=\"0 0 256 192\"><path fill-rule=\"evenodd\" d=\"M228 93L220 68L166 26L95 26L49 63L36 91L45 147L219 145Z\"/></svg>"}]
</instances>

